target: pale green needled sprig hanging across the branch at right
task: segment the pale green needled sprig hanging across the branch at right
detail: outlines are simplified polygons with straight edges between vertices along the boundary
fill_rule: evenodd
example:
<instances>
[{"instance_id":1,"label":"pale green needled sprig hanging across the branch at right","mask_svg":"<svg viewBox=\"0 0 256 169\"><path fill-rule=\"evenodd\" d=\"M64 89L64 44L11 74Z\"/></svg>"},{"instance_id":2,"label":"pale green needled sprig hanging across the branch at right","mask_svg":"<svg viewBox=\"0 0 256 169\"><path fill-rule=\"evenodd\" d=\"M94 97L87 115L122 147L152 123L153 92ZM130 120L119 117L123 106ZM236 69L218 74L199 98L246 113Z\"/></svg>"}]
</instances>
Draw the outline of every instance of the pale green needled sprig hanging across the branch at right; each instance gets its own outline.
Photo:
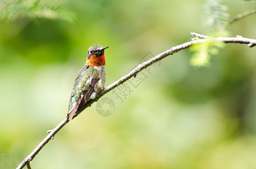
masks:
<instances>
[{"instance_id":1,"label":"pale green needled sprig hanging across the branch at right","mask_svg":"<svg viewBox=\"0 0 256 169\"><path fill-rule=\"evenodd\" d=\"M225 25L227 25L229 14L228 7L222 0L206 0L203 5L203 23L208 28L210 37L219 37L227 35ZM211 55L219 54L220 48L224 44L216 41L207 41L190 47L193 55L190 63L194 66L208 66Z\"/></svg>"}]
</instances>

